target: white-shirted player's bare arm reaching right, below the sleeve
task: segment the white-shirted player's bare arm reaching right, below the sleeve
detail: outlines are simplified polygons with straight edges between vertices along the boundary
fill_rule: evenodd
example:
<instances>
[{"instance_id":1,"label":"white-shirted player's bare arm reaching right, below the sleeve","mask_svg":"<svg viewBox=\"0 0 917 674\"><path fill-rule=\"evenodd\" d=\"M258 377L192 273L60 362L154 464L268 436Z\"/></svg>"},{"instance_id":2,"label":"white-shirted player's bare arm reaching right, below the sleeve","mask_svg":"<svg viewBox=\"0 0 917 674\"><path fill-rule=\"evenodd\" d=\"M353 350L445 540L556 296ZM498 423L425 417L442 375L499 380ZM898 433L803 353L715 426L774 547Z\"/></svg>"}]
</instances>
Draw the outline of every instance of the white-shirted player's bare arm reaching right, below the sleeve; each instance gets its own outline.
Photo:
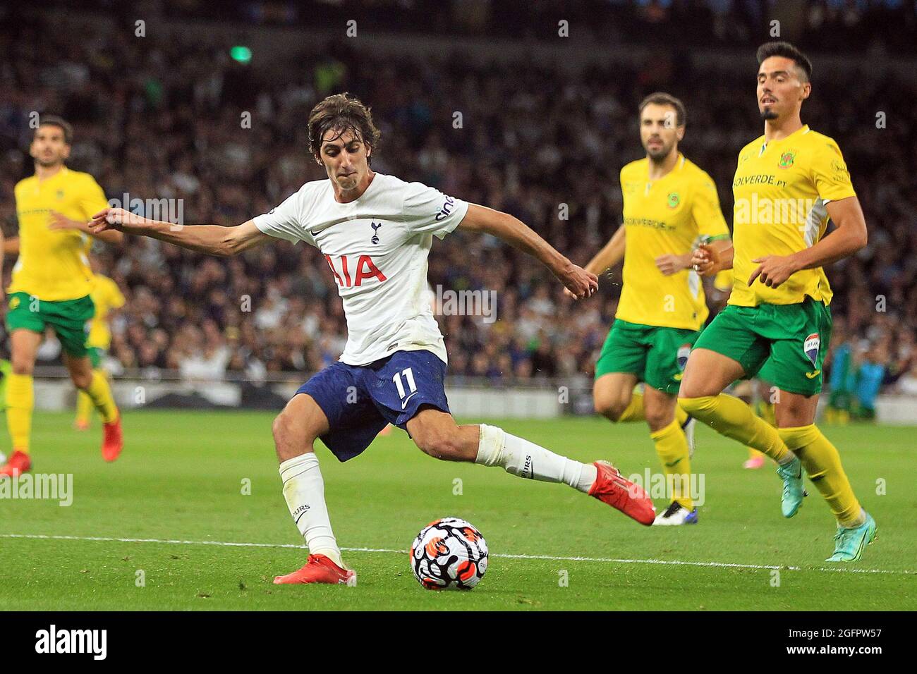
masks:
<instances>
[{"instance_id":1,"label":"white-shirted player's bare arm reaching right, below the sleeve","mask_svg":"<svg viewBox=\"0 0 917 674\"><path fill-rule=\"evenodd\" d=\"M495 211L487 206L469 204L468 213L458 227L490 234L528 253L544 264L577 298L589 297L599 287L599 280L595 274L573 264L545 239L539 237L531 227L513 215Z\"/></svg>"}]
</instances>

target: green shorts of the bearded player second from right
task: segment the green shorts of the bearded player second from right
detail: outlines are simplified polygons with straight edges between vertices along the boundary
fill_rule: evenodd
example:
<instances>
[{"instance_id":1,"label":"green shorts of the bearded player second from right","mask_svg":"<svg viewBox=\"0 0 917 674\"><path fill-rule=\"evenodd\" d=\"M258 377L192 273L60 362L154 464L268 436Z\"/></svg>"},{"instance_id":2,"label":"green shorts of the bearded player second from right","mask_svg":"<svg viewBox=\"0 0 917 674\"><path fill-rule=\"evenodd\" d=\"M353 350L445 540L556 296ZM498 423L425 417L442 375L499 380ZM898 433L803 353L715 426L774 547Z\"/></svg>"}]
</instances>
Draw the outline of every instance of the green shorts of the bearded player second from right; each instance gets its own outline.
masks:
<instances>
[{"instance_id":1,"label":"green shorts of the bearded player second from right","mask_svg":"<svg viewBox=\"0 0 917 674\"><path fill-rule=\"evenodd\" d=\"M617 318L595 364L595 378L612 372L635 374L647 386L676 395L691 345L700 334L697 330L644 326Z\"/></svg>"}]
</instances>

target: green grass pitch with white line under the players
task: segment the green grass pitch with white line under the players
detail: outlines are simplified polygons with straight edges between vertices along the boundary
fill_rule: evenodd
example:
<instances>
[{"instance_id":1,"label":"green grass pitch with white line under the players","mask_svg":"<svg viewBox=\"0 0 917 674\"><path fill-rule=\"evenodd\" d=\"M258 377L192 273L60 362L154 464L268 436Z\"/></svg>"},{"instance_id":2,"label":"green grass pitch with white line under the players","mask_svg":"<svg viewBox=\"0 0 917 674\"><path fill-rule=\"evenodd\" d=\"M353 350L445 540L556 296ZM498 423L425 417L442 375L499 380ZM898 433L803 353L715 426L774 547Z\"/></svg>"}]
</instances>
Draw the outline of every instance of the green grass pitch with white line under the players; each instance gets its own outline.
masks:
<instances>
[{"instance_id":1,"label":"green grass pitch with white line under the players","mask_svg":"<svg viewBox=\"0 0 917 674\"><path fill-rule=\"evenodd\" d=\"M346 464L319 447L337 540L359 574L348 588L271 584L306 557L283 502L271 419L128 413L125 453L108 465L97 420L78 433L72 414L37 414L35 470L72 473L73 503L0 500L0 608L917 609L912 427L825 427L878 522L863 558L836 567L823 563L834 522L818 492L810 485L784 520L773 469L743 470L745 448L705 427L693 461L705 503L700 524L682 527L644 527L564 485L430 459L397 429ZM611 459L625 474L657 470L642 424L499 424L574 459ZM474 591L425 591L411 573L407 547L444 515L487 538L491 564Z\"/></svg>"}]
</instances>

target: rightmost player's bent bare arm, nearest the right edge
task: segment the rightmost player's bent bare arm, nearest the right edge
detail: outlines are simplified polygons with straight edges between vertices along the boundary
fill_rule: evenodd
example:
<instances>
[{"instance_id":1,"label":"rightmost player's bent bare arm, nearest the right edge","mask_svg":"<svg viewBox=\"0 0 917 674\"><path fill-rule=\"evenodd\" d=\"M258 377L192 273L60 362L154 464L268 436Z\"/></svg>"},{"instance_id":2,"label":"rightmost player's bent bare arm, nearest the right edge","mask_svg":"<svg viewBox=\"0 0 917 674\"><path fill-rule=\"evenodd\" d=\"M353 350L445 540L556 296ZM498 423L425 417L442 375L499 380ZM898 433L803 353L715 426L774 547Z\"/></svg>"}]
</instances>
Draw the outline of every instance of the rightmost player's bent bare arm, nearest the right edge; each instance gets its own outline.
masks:
<instances>
[{"instance_id":1,"label":"rightmost player's bent bare arm, nearest the right edge","mask_svg":"<svg viewBox=\"0 0 917 674\"><path fill-rule=\"evenodd\" d=\"M760 278L765 285L776 288L797 271L817 269L826 264L853 255L867 244L866 217L856 196L826 204L828 216L836 227L827 237L812 248L792 255L768 255L752 260L758 262L757 269L748 279L748 285Z\"/></svg>"}]
</instances>

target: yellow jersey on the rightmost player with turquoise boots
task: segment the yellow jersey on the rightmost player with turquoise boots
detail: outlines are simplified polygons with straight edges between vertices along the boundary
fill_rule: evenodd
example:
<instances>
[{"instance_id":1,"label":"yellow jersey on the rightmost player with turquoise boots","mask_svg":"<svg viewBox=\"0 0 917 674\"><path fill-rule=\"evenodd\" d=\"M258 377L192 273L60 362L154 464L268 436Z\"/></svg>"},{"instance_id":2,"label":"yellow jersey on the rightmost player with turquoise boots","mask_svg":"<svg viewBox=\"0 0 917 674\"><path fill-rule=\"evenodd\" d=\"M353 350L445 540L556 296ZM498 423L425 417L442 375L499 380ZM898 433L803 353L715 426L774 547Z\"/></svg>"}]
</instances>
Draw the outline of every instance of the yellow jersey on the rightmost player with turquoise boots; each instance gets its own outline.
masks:
<instances>
[{"instance_id":1,"label":"yellow jersey on the rightmost player with turquoise boots","mask_svg":"<svg viewBox=\"0 0 917 674\"><path fill-rule=\"evenodd\" d=\"M812 297L831 302L821 267L801 270L768 288L748 279L757 258L791 255L812 248L828 227L825 204L856 196L844 157L833 138L808 126L786 138L748 143L739 152L733 179L733 292L729 304L799 304Z\"/></svg>"}]
</instances>

